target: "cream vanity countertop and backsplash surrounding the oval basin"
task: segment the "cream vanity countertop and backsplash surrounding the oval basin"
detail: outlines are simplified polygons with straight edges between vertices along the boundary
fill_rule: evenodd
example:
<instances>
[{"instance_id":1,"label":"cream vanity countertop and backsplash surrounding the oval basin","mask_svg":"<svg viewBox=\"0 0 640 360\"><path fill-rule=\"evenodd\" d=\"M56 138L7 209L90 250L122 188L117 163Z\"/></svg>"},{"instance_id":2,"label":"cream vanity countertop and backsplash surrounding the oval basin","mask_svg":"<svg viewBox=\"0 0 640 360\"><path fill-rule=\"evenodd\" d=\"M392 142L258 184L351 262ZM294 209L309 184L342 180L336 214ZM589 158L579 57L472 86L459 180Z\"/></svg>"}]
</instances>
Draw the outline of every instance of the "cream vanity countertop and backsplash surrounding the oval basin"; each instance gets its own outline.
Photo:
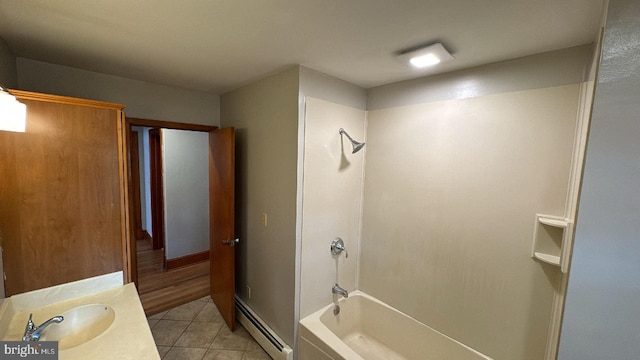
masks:
<instances>
[{"instance_id":1,"label":"cream vanity countertop and backsplash surrounding the oval basin","mask_svg":"<svg viewBox=\"0 0 640 360\"><path fill-rule=\"evenodd\" d=\"M109 276L111 275L4 299L0 305L0 338L5 341L21 340L30 313L33 313L33 321L41 324L77 306L105 304L115 311L111 326L84 344L61 350L60 360L159 360L160 356L134 284L123 286L121 282L117 284L113 276Z\"/></svg>"}]
</instances>

